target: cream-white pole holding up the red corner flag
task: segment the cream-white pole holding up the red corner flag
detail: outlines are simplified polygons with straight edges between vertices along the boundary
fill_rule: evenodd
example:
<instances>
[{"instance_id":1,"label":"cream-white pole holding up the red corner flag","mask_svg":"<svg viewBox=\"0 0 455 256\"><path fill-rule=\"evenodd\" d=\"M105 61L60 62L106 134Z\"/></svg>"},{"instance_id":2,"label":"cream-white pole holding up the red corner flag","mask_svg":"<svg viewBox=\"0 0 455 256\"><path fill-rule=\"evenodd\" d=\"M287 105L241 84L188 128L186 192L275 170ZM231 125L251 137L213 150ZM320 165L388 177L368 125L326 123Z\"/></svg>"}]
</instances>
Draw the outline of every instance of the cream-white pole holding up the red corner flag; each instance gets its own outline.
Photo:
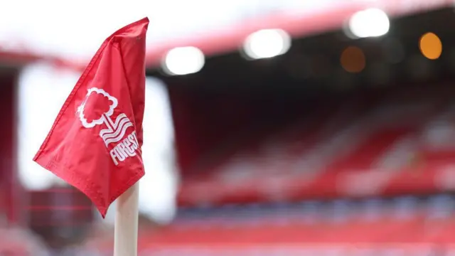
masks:
<instances>
[{"instance_id":1,"label":"cream-white pole holding up the red corner flag","mask_svg":"<svg viewBox=\"0 0 455 256\"><path fill-rule=\"evenodd\" d=\"M117 198L114 256L137 256L139 181Z\"/></svg>"}]
</instances>

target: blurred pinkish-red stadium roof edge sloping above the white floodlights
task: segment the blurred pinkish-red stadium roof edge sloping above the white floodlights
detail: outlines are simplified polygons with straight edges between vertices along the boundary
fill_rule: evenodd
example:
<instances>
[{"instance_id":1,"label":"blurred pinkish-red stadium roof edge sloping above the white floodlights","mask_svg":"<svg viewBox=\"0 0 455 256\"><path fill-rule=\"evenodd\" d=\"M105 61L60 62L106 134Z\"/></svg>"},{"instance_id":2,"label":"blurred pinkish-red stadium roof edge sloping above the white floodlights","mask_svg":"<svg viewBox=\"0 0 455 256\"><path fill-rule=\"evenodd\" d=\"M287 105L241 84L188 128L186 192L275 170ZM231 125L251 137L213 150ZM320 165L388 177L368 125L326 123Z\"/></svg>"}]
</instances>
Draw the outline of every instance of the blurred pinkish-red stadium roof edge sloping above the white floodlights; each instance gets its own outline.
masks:
<instances>
[{"instance_id":1,"label":"blurred pinkish-red stadium roof edge sloping above the white floodlights","mask_svg":"<svg viewBox=\"0 0 455 256\"><path fill-rule=\"evenodd\" d=\"M264 28L282 28L291 36L302 37L309 36L313 33L321 33L331 29L341 28L348 18L356 11L367 8L380 8L389 16L405 16L415 14L419 11L429 11L453 5L451 0L358 0L358 1L336 1L335 3L326 3L319 8L311 10L299 9L281 9L275 10L272 14L262 15L255 18L247 18L241 22L225 24L218 26L215 30L203 29L198 33L186 33L186 36L177 38L173 36L168 40L149 40L147 49L146 62L149 68L155 68L164 57L168 50L179 46L194 46L200 48L205 55L216 55L237 50L242 46L243 41L251 33ZM151 17L151 26L154 18ZM116 22L118 23L118 22ZM76 25L74 25L76 26ZM68 28L70 29L70 28ZM153 28L152 28L153 29ZM109 28L109 30L111 30ZM153 31L149 31L154 33ZM90 33L89 33L90 34ZM93 33L92 33L93 34ZM93 41L98 41L102 33L96 33L97 36ZM150 35L149 35L150 36ZM152 35L156 36L156 35ZM166 38L166 37L163 37ZM11 39L11 41L14 41ZM33 43L29 41L28 44ZM15 47L11 48L11 45ZM97 45L100 42L95 43ZM82 69L87 62L87 56L84 58L72 58L65 54L48 53L45 50L31 50L27 43L9 42L8 47L2 47L0 41L0 63L6 65L24 65L37 60L45 60L54 63L60 67ZM16 47L21 46L21 47ZM94 48L95 46L91 46ZM93 50L92 49L92 50ZM91 50L88 50L90 53Z\"/></svg>"}]
</instances>

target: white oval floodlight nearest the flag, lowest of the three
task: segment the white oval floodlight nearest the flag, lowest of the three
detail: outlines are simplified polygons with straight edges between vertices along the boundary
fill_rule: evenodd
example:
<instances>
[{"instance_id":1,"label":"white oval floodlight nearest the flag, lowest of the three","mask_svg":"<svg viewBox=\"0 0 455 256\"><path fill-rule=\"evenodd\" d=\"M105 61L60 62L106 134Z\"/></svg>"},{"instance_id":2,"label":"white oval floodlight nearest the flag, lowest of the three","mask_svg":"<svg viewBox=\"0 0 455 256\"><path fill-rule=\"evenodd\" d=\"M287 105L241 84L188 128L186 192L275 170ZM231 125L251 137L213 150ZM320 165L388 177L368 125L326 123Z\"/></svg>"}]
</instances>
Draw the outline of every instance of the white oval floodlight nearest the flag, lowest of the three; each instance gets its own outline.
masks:
<instances>
[{"instance_id":1,"label":"white oval floodlight nearest the flag, lowest of the three","mask_svg":"<svg viewBox=\"0 0 455 256\"><path fill-rule=\"evenodd\" d=\"M188 75L199 72L205 63L204 54L193 46L169 50L164 58L163 69L168 75Z\"/></svg>"}]
</instances>

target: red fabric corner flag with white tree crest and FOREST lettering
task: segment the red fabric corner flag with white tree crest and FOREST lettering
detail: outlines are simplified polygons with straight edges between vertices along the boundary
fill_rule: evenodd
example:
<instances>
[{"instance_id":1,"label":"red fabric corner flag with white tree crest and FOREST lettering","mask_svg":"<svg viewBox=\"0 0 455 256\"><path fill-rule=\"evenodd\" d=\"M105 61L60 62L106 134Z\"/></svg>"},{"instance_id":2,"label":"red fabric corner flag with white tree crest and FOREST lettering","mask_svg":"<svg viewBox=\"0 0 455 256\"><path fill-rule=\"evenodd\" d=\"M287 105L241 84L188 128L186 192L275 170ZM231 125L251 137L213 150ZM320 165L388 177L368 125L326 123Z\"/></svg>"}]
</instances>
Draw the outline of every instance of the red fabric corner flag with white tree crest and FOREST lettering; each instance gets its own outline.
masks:
<instances>
[{"instance_id":1,"label":"red fabric corner flag with white tree crest and FOREST lettering","mask_svg":"<svg viewBox=\"0 0 455 256\"><path fill-rule=\"evenodd\" d=\"M149 19L102 43L33 161L85 193L103 218L144 176L142 119Z\"/></svg>"}]
</instances>

